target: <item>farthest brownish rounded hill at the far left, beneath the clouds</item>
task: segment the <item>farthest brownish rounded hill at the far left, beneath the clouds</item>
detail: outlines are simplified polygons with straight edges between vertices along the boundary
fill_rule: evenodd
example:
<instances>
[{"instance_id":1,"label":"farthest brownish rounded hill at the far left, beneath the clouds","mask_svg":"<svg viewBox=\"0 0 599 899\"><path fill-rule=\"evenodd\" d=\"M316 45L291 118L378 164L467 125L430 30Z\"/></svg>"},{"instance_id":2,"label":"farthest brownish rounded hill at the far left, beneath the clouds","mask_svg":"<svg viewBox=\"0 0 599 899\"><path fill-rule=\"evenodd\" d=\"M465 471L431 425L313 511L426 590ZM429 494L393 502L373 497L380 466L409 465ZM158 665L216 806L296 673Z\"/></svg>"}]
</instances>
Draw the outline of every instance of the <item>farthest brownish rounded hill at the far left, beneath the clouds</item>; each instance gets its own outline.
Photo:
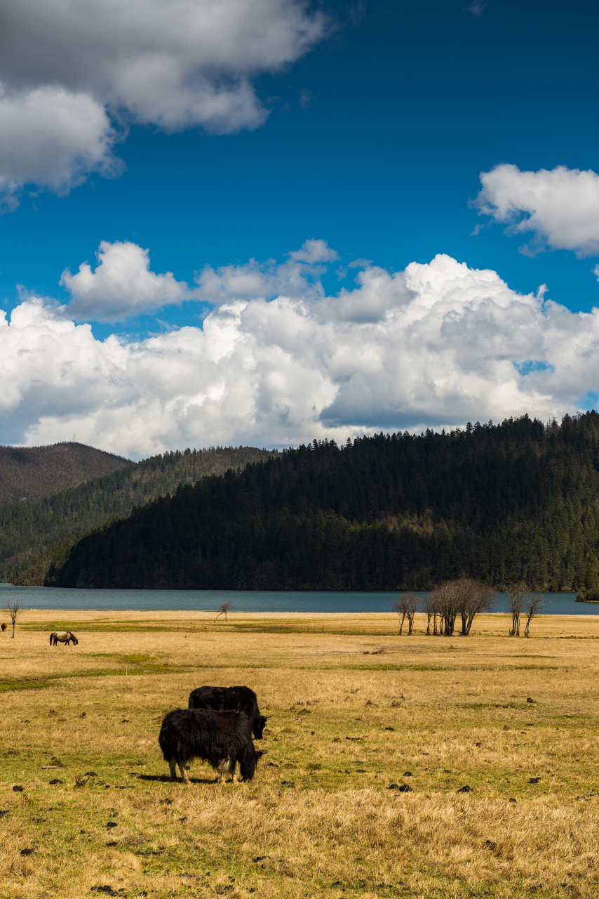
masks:
<instances>
[{"instance_id":1,"label":"farthest brownish rounded hill at the far left, beneath the clouds","mask_svg":"<svg viewBox=\"0 0 599 899\"><path fill-rule=\"evenodd\" d=\"M127 465L130 459L83 443L0 446L0 503L34 503Z\"/></svg>"}]
</instances>

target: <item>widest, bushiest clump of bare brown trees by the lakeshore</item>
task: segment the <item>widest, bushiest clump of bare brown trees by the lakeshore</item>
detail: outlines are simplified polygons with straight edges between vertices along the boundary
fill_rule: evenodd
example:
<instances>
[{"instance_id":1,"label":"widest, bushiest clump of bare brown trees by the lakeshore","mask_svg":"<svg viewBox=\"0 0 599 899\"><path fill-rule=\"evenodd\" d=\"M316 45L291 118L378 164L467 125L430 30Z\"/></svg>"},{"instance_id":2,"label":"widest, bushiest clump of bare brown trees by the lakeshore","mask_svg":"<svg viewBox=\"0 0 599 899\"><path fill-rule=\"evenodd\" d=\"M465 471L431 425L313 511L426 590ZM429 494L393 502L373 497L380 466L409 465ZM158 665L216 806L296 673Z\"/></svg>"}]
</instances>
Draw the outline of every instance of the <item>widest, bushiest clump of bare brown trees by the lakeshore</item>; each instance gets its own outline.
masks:
<instances>
[{"instance_id":1,"label":"widest, bushiest clump of bare brown trees by the lakeshore","mask_svg":"<svg viewBox=\"0 0 599 899\"><path fill-rule=\"evenodd\" d=\"M460 618L462 619L462 636L468 636L474 617L479 612L490 611L496 596L497 591L493 587L471 577L458 577L453 581L440 583L425 602L425 611L428 616L427 634L430 633L430 619L432 618L434 634L454 636L455 622Z\"/></svg>"}]
</instances>

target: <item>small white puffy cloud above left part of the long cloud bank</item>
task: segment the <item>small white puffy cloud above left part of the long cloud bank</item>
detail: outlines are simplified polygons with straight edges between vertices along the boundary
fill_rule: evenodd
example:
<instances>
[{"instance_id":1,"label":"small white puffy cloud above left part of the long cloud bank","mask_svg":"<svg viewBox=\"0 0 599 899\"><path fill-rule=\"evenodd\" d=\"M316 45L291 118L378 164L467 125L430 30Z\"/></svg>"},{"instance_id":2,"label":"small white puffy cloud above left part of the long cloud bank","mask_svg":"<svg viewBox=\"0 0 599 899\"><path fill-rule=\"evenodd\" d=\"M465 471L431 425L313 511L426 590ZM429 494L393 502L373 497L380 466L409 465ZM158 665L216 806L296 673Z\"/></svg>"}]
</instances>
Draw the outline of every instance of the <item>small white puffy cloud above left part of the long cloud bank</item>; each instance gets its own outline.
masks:
<instances>
[{"instance_id":1,"label":"small white puffy cloud above left part of the long cloud bank","mask_svg":"<svg viewBox=\"0 0 599 899\"><path fill-rule=\"evenodd\" d=\"M187 284L174 279L171 271L150 271L148 250L128 241L109 244L103 240L94 271L82 263L76 274L63 271L60 283L72 295L66 313L75 319L114 322L193 296Z\"/></svg>"}]
</instances>

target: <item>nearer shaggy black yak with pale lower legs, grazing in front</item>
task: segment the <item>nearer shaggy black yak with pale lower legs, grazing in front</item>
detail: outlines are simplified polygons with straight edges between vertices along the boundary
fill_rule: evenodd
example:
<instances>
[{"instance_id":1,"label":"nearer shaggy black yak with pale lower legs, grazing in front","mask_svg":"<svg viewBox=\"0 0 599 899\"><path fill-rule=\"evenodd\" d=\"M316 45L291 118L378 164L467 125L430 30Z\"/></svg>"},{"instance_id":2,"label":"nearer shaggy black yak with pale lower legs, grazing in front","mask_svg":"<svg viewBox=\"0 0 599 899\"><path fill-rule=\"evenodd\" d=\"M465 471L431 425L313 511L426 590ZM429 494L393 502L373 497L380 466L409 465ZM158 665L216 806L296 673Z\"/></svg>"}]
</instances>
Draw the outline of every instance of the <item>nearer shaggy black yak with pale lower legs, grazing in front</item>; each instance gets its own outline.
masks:
<instances>
[{"instance_id":1,"label":"nearer shaggy black yak with pale lower legs, grazing in front","mask_svg":"<svg viewBox=\"0 0 599 899\"><path fill-rule=\"evenodd\" d=\"M171 768L171 779L177 779L175 766L179 765L188 786L187 770L193 759L209 761L217 772L216 782L232 774L233 782L237 783L237 762L242 779L251 780L264 755L252 743L250 718L243 712L174 708L163 719L158 743L164 761Z\"/></svg>"}]
</instances>

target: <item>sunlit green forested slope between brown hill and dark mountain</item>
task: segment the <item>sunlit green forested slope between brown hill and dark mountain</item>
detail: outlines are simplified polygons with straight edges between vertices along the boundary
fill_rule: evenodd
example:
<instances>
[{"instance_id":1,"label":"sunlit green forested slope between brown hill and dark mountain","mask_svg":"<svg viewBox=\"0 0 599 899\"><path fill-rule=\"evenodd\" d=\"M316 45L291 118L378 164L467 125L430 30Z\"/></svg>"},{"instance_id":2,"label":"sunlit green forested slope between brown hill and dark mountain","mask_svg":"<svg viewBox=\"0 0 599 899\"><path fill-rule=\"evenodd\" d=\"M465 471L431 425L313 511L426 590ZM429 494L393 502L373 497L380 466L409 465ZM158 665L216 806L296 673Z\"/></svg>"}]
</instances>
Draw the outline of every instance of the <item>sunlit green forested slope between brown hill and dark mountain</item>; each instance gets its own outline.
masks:
<instances>
[{"instance_id":1,"label":"sunlit green forested slope between brown hill and dark mountain","mask_svg":"<svg viewBox=\"0 0 599 899\"><path fill-rule=\"evenodd\" d=\"M38 503L4 503L0 505L0 581L43 583L48 566L63 559L82 533L115 516L129 515L180 484L272 456L277 456L276 450L253 447L177 450L128 463Z\"/></svg>"}]
</instances>

